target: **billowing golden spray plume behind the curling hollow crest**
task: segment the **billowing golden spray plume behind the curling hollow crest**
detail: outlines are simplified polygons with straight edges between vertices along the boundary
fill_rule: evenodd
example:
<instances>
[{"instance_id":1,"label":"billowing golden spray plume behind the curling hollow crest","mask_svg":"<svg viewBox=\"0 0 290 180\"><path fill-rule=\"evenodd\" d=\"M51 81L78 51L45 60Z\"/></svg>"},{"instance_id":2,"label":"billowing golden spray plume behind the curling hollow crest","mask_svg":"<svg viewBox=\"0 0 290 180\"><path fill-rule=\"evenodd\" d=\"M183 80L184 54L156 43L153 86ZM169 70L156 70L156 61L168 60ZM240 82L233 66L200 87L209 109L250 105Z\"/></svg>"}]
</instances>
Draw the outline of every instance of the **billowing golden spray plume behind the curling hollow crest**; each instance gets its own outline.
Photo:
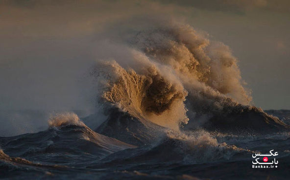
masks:
<instances>
[{"instance_id":1,"label":"billowing golden spray plume behind the curling hollow crest","mask_svg":"<svg viewBox=\"0 0 290 180\"><path fill-rule=\"evenodd\" d=\"M187 90L250 103L251 96L243 87L237 59L229 47L210 42L191 26L170 23L142 31L131 42L150 59L169 65Z\"/></svg>"}]
</instances>

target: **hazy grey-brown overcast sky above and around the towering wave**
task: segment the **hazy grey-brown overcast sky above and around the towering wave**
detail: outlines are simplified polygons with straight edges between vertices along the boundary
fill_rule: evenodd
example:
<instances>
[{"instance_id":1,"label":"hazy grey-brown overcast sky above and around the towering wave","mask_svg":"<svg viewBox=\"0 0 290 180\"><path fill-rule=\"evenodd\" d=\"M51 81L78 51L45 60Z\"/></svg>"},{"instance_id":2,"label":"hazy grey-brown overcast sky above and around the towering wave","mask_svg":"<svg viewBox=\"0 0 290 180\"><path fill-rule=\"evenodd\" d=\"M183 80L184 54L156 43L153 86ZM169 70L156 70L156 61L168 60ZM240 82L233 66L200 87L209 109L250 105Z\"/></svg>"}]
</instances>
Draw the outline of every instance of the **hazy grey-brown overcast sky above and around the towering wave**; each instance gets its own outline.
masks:
<instances>
[{"instance_id":1,"label":"hazy grey-brown overcast sky above and around the towering wave","mask_svg":"<svg viewBox=\"0 0 290 180\"><path fill-rule=\"evenodd\" d=\"M289 0L2 0L0 12L0 109L92 108L98 40L137 16L184 21L228 45L254 105L290 109Z\"/></svg>"}]
</instances>

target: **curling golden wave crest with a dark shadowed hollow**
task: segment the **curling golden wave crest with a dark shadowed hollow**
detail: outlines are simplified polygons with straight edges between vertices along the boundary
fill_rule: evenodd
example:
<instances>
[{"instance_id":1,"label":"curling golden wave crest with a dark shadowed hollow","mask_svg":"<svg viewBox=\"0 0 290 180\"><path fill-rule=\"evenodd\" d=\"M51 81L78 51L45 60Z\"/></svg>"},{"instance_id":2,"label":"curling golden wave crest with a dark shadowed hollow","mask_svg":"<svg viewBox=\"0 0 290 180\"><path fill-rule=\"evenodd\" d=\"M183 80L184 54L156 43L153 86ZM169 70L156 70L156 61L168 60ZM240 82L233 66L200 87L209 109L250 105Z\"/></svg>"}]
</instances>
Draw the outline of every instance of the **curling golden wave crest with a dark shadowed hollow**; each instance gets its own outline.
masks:
<instances>
[{"instance_id":1,"label":"curling golden wave crest with a dark shadowed hollow","mask_svg":"<svg viewBox=\"0 0 290 180\"><path fill-rule=\"evenodd\" d=\"M110 72L103 74L108 82L102 95L106 101L139 119L172 129L189 120L183 103L187 91L162 76L156 67L145 67L143 74L132 68L125 70L116 61L98 63L97 68Z\"/></svg>"}]
</instances>

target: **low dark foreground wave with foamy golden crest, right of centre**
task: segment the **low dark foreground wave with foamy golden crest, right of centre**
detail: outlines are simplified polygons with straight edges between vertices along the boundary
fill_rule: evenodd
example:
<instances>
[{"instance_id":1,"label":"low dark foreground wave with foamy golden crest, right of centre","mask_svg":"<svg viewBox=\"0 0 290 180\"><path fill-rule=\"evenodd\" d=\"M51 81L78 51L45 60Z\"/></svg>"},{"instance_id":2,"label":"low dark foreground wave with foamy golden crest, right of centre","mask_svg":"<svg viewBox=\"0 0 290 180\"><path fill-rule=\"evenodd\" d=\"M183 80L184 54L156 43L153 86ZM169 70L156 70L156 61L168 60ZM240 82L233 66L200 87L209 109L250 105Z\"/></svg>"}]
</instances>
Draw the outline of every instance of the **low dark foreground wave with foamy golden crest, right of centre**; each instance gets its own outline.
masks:
<instances>
[{"instance_id":1,"label":"low dark foreground wave with foamy golden crest, right of centre","mask_svg":"<svg viewBox=\"0 0 290 180\"><path fill-rule=\"evenodd\" d=\"M126 149L107 156L101 161L107 166L122 163L124 165L171 163L198 164L221 161L235 161L251 156L250 150L218 143L208 132L196 131L190 134L166 131L158 141L136 149ZM90 168L97 168L92 164Z\"/></svg>"}]
</instances>

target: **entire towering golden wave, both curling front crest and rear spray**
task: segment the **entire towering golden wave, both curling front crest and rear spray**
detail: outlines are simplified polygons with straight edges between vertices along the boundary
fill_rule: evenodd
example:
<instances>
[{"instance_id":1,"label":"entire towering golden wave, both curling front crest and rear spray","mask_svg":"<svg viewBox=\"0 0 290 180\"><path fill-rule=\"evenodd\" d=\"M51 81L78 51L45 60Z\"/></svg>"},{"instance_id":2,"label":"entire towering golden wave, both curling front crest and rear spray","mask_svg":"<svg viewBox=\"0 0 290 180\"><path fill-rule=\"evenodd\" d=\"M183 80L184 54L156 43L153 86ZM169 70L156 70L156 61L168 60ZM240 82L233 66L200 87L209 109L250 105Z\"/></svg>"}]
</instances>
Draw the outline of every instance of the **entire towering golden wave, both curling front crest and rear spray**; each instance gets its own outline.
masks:
<instances>
[{"instance_id":1,"label":"entire towering golden wave, both curling front crest and rear spray","mask_svg":"<svg viewBox=\"0 0 290 180\"><path fill-rule=\"evenodd\" d=\"M236 117L246 129L245 121L254 118L266 126L278 123L288 128L250 106L250 90L244 87L237 59L228 46L211 42L180 23L125 37L127 47L120 57L98 61L92 72L105 87L101 89L103 100L120 110L175 130L188 122L210 129L228 128L235 126Z\"/></svg>"}]
</instances>

